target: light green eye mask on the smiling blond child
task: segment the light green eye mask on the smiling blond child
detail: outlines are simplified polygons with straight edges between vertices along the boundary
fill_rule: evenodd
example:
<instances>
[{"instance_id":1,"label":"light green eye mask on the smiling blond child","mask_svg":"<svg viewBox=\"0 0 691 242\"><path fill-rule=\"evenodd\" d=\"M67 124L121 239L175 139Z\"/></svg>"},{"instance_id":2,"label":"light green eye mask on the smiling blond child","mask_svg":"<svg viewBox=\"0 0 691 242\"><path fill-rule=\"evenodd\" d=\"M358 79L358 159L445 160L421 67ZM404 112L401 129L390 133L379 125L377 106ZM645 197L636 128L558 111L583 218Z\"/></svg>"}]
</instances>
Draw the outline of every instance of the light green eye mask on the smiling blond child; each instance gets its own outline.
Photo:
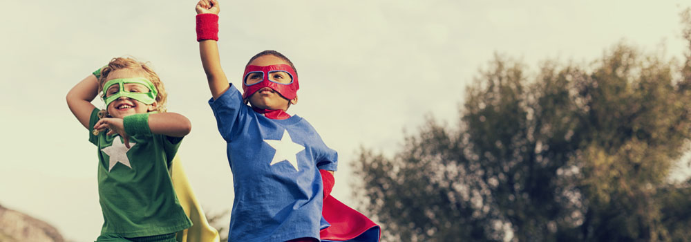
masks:
<instances>
[{"instance_id":1,"label":"light green eye mask on the smiling blond child","mask_svg":"<svg viewBox=\"0 0 691 242\"><path fill-rule=\"evenodd\" d=\"M124 90L124 84L126 83L142 84L149 89L149 92L130 93L129 91ZM113 95L106 97L106 91L108 91L108 89L110 89L113 85L118 85L118 88L120 90L118 90L117 93L114 93ZM109 104L111 104L111 102L117 100L120 97L129 97L133 100L137 100L146 105L149 105L153 102L156 102L156 95L158 95L156 87L153 86L153 83L149 82L149 80L146 80L146 78L143 77L113 79L106 82L106 84L103 85L103 100L106 102L106 106L108 106Z\"/></svg>"}]
</instances>

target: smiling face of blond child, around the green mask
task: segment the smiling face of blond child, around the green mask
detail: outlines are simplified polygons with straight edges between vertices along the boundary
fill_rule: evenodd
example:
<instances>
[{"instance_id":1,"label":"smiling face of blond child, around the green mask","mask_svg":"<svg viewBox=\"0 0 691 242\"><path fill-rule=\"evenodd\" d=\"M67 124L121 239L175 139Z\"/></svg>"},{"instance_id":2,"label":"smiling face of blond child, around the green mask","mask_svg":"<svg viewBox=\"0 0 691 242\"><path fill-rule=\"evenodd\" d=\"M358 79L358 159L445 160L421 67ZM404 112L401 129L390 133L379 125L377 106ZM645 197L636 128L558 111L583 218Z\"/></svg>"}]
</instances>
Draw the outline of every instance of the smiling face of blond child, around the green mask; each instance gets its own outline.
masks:
<instances>
[{"instance_id":1,"label":"smiling face of blond child, around the green mask","mask_svg":"<svg viewBox=\"0 0 691 242\"><path fill-rule=\"evenodd\" d=\"M140 71L124 68L111 72L108 75L108 79L106 80L106 82L113 79L133 78L142 76L144 75ZM107 88L104 90L106 97L115 95L118 92L120 92L119 84L115 84L109 87L104 86L104 88ZM124 91L130 93L147 93L150 91L149 88L147 88L146 86L137 83L125 83L123 84L123 89ZM113 118L124 118L126 116L133 115L136 113L147 113L149 111L153 111L156 109L157 105L158 104L156 102L147 105L138 100L134 100L132 98L123 96L117 98L115 101L108 104L106 110L108 111L108 114L111 115L111 117Z\"/></svg>"}]
</instances>

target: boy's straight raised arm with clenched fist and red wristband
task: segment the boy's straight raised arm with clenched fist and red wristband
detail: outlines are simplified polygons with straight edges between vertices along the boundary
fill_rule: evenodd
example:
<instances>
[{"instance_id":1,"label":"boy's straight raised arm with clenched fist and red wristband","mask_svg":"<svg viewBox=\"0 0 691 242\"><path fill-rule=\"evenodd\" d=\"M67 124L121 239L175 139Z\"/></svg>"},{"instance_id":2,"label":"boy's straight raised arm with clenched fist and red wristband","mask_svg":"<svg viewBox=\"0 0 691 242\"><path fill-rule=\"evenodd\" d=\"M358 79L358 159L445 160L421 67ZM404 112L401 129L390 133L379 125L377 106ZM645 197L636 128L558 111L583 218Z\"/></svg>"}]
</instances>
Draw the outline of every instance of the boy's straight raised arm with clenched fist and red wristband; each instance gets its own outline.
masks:
<instances>
[{"instance_id":1,"label":"boy's straight raised arm with clenched fist and red wristband","mask_svg":"<svg viewBox=\"0 0 691 242\"><path fill-rule=\"evenodd\" d=\"M217 0L200 0L195 8L197 11L197 40L199 41L199 55L202 66L207 75L211 95L220 97L228 90L228 79L220 67L218 54L218 12L220 6Z\"/></svg>"}]
</instances>

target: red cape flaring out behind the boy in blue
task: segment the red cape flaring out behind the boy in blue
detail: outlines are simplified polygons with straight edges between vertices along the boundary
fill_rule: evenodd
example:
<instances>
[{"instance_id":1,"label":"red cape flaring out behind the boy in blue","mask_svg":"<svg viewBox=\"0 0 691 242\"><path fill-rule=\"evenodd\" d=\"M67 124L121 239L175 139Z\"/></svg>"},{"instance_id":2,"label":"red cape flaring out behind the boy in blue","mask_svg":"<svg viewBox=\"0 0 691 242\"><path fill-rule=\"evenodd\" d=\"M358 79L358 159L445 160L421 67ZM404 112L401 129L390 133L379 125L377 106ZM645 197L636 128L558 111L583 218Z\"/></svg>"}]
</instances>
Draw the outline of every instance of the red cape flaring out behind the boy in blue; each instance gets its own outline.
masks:
<instances>
[{"instance_id":1,"label":"red cape flaring out behind the boy in blue","mask_svg":"<svg viewBox=\"0 0 691 242\"><path fill-rule=\"evenodd\" d=\"M365 232L368 232L368 234L371 232L375 233L375 236L370 236L368 241L379 241L381 234L379 225L360 212L341 203L333 196L324 198L324 207L321 214L331 224L330 227L320 231L322 241L348 241L361 236Z\"/></svg>"}]
</instances>

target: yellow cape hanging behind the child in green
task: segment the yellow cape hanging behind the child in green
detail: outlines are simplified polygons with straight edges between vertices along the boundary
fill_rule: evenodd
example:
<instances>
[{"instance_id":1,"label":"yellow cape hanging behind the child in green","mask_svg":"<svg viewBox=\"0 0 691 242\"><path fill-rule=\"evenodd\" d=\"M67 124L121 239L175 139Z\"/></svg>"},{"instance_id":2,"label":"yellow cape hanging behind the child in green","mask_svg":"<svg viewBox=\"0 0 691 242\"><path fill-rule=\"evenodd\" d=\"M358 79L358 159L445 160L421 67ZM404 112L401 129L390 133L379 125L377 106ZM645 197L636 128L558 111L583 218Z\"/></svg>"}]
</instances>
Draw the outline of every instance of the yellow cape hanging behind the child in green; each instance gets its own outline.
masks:
<instances>
[{"instance_id":1,"label":"yellow cape hanging behind the child in green","mask_svg":"<svg viewBox=\"0 0 691 242\"><path fill-rule=\"evenodd\" d=\"M209 225L207 216L194 196L192 186L189 185L187 175L184 174L178 156L173 158L171 179L173 180L173 188L178 195L178 201L180 201L184 213L192 221L192 227L178 232L177 240L180 242L219 242L218 231Z\"/></svg>"}]
</instances>

